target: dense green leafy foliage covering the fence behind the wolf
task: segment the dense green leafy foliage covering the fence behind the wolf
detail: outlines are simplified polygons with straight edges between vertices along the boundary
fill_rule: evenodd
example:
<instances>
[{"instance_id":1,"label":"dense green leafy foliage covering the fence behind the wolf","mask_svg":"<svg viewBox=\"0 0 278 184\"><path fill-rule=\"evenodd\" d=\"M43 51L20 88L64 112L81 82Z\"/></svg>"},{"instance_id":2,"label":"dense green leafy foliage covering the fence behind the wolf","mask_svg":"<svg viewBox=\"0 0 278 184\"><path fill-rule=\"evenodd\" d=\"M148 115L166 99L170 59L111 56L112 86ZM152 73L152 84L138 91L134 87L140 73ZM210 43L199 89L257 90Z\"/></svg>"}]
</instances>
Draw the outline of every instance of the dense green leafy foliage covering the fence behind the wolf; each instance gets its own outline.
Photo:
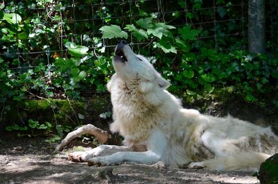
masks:
<instances>
[{"instance_id":1,"label":"dense green leafy foliage covering the fence behind the wolf","mask_svg":"<svg viewBox=\"0 0 278 184\"><path fill-rule=\"evenodd\" d=\"M268 3L272 31L277 3ZM247 1L9 1L0 5L0 25L0 122L24 99L106 92L120 39L150 56L179 97L235 93L278 108L275 32L267 54L247 52Z\"/></svg>"}]
</instances>

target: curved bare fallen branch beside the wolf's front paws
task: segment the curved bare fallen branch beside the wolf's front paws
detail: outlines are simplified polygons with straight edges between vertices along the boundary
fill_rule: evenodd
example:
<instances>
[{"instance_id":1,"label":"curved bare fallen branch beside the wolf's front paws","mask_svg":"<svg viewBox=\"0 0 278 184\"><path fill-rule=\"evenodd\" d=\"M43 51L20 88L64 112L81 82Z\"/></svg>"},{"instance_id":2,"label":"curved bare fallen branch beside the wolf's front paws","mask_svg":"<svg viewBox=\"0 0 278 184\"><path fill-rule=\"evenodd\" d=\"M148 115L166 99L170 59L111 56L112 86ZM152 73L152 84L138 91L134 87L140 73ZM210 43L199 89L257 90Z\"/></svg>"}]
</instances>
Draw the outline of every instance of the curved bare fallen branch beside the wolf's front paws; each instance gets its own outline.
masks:
<instances>
[{"instance_id":1,"label":"curved bare fallen branch beside the wolf's front paws","mask_svg":"<svg viewBox=\"0 0 278 184\"><path fill-rule=\"evenodd\" d=\"M104 144L108 140L107 131L103 131L100 128L93 126L92 124L86 124L84 126L81 126L80 128L77 128L75 131L68 133L65 139L63 139L62 142L58 144L55 151L61 151L63 147L65 147L65 145L67 145L71 140L76 137L81 137L81 135L85 133L95 135L95 137L101 144Z\"/></svg>"}]
</instances>

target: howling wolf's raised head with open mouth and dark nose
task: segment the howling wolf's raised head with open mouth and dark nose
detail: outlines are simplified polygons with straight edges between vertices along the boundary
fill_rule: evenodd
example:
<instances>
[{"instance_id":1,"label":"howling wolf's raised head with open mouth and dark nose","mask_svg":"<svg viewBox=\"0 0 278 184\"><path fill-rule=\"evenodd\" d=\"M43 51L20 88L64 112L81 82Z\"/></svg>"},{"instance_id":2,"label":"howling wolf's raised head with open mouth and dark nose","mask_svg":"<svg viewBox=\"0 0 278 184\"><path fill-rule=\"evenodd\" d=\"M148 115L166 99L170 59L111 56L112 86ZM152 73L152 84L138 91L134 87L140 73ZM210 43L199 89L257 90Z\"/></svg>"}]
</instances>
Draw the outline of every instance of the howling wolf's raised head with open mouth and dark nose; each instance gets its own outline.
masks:
<instances>
[{"instance_id":1,"label":"howling wolf's raised head with open mouth and dark nose","mask_svg":"<svg viewBox=\"0 0 278 184\"><path fill-rule=\"evenodd\" d=\"M115 48L113 66L122 81L134 83L138 81L139 90L147 92L157 87L166 89L170 83L156 72L156 69L144 56L136 55L129 44L121 40Z\"/></svg>"}]
</instances>

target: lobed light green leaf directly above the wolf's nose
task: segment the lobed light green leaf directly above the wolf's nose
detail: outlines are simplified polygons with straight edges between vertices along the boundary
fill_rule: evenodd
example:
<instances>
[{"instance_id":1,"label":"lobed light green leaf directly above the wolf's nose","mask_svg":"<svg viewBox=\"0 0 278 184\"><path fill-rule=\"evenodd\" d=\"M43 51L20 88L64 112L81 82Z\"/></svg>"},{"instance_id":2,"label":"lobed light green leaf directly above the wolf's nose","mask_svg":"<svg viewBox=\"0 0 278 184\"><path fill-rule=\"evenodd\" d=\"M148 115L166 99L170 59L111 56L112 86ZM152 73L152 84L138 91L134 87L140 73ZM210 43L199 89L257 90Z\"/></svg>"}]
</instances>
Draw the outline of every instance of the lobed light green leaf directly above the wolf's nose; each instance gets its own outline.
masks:
<instances>
[{"instance_id":1,"label":"lobed light green leaf directly above the wolf's nose","mask_svg":"<svg viewBox=\"0 0 278 184\"><path fill-rule=\"evenodd\" d=\"M103 31L102 37L101 38L108 38L112 39L114 37L120 37L120 38L127 38L129 35L122 31L120 26L117 25L111 25L111 26L102 26L99 28L100 31Z\"/></svg>"}]
</instances>

